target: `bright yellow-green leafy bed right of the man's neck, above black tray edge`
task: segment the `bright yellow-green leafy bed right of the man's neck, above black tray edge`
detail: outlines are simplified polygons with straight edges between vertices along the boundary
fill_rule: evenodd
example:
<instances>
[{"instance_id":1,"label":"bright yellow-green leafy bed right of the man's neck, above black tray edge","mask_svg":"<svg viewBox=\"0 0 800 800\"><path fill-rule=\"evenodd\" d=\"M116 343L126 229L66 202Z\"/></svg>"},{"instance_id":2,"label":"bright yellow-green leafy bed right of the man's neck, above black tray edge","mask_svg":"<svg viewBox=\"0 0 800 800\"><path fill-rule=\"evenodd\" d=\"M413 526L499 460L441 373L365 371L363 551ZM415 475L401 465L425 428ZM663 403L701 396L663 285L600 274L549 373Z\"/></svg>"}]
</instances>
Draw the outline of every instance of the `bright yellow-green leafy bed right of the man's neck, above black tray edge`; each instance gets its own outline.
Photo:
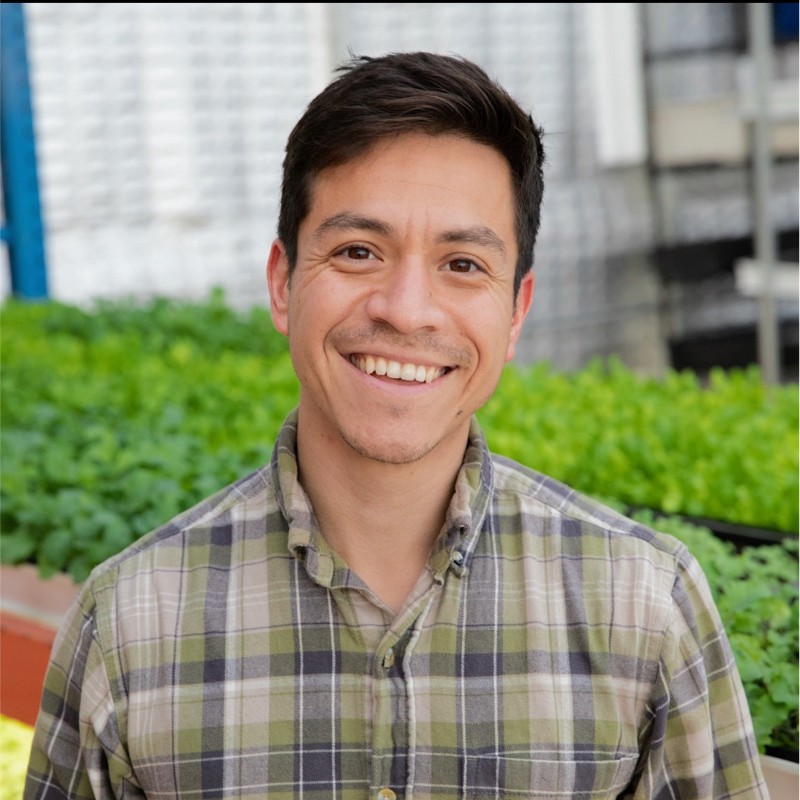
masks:
<instances>
[{"instance_id":1,"label":"bright yellow-green leafy bed right of the man's neck, above black tray edge","mask_svg":"<svg viewBox=\"0 0 800 800\"><path fill-rule=\"evenodd\" d=\"M797 386L757 369L661 379L618 361L509 366L479 413L490 446L627 506L796 532Z\"/></svg>"}]
</instances>

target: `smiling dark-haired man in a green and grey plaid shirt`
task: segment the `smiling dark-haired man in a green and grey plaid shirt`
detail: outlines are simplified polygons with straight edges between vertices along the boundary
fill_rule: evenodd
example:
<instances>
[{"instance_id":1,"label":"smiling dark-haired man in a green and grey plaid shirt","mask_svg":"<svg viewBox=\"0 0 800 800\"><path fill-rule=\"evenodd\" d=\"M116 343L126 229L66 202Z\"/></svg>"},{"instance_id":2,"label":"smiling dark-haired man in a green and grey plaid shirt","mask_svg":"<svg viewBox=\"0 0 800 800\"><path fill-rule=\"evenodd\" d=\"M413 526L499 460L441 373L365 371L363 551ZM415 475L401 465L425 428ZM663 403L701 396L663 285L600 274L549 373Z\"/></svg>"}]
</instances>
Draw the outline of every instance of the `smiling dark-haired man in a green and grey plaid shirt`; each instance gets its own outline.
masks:
<instances>
[{"instance_id":1,"label":"smiling dark-haired man in a green and grey plaid shirt","mask_svg":"<svg viewBox=\"0 0 800 800\"><path fill-rule=\"evenodd\" d=\"M531 304L541 135L424 53L310 104L268 261L299 406L87 581L27 797L766 797L685 548L474 420Z\"/></svg>"}]
</instances>

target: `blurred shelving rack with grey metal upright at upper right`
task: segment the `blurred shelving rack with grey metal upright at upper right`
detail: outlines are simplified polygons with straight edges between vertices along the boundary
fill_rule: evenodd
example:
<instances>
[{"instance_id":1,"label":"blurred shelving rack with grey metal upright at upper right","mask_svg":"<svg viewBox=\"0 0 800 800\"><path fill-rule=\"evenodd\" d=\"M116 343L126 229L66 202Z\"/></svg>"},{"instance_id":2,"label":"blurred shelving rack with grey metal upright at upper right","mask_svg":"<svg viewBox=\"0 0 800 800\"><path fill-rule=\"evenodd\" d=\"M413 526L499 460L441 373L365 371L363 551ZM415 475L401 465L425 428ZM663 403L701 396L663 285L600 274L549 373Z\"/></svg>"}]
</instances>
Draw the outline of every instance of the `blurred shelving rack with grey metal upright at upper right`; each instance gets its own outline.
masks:
<instances>
[{"instance_id":1,"label":"blurred shelving rack with grey metal upright at upper right","mask_svg":"<svg viewBox=\"0 0 800 800\"><path fill-rule=\"evenodd\" d=\"M679 367L757 362L763 380L778 383L793 379L794 369L797 217L787 203L787 170L800 148L798 79L777 75L787 73L796 21L793 33L775 16L778 6L792 4L725 5L729 17L716 10L728 22L724 31L707 33L705 42L690 36L688 46L676 38L674 49L662 44L649 56L648 67L658 66L662 78L673 74L662 65L675 65L669 69L677 66L684 79L697 75L700 87L689 85L688 99L676 99L663 86L677 84L653 84L649 96L665 335ZM709 20L701 21L711 31ZM693 72L698 66L706 71ZM718 203L714 186L728 190ZM716 207L713 224L687 216L685 199L692 197L702 198L700 210Z\"/></svg>"}]
</instances>

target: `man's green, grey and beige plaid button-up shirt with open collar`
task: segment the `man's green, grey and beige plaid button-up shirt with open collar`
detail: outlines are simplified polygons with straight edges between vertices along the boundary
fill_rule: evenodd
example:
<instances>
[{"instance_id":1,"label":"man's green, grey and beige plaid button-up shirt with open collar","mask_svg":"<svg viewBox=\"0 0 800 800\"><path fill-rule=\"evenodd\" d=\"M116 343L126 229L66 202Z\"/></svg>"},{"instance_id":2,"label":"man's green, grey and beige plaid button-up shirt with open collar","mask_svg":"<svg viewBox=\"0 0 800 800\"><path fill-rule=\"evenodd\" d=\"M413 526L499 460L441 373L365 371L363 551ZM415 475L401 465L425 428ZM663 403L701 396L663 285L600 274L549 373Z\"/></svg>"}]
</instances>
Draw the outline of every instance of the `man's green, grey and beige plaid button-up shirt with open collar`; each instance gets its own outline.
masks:
<instances>
[{"instance_id":1,"label":"man's green, grey and beige plaid button-up shirt with open collar","mask_svg":"<svg viewBox=\"0 0 800 800\"><path fill-rule=\"evenodd\" d=\"M682 545L490 455L473 422L393 615L320 536L295 434L83 586L26 798L767 797Z\"/></svg>"}]
</instances>

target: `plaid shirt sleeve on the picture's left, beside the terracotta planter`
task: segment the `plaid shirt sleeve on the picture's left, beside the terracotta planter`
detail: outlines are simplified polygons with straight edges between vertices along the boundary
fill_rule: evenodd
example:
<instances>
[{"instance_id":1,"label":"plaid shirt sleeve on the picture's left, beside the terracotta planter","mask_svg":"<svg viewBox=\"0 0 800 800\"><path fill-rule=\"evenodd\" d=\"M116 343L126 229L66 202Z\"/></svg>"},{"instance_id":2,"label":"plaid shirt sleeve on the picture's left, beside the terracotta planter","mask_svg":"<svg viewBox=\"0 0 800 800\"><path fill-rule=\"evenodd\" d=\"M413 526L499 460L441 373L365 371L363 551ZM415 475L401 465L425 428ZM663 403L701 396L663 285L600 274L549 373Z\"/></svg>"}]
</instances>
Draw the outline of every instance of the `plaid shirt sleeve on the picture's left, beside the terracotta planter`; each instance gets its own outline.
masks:
<instances>
[{"instance_id":1,"label":"plaid shirt sleeve on the picture's left, beside the terracotta planter","mask_svg":"<svg viewBox=\"0 0 800 800\"><path fill-rule=\"evenodd\" d=\"M45 676L25 800L143 797L119 734L89 589L65 618Z\"/></svg>"}]
</instances>

